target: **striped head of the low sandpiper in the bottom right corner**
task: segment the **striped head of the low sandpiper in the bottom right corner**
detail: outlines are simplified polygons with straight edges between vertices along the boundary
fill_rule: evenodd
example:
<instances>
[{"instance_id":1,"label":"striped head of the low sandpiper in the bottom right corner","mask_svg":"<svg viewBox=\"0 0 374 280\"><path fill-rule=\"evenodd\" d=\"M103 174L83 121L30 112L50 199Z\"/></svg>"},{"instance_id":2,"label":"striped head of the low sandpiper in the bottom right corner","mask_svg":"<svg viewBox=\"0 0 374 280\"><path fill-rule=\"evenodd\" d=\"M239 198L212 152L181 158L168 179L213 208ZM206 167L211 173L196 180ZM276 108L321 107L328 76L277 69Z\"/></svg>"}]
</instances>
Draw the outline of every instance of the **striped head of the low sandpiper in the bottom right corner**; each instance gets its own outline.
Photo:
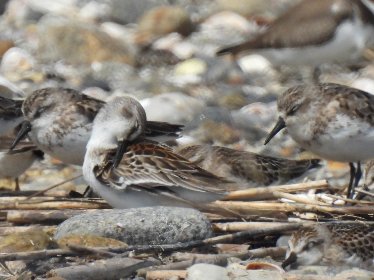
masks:
<instances>
[{"instance_id":1,"label":"striped head of the low sandpiper in the bottom right corner","mask_svg":"<svg viewBox=\"0 0 374 280\"><path fill-rule=\"evenodd\" d=\"M287 267L292 263L298 265L318 264L324 256L326 238L314 227L307 227L294 233L288 241L289 248L282 267Z\"/></svg>"}]
</instances>

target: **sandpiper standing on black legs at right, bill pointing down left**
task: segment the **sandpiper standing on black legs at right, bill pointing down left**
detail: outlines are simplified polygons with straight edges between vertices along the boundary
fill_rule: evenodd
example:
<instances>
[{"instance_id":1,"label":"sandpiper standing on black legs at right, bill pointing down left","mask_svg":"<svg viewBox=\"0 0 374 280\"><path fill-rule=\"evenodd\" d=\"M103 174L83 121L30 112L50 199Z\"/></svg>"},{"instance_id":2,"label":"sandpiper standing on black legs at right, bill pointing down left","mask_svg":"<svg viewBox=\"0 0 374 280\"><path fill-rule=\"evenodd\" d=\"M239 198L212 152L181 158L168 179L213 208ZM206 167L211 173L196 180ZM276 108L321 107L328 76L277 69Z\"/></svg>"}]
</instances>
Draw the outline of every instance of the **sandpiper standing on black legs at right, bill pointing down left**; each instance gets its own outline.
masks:
<instances>
[{"instance_id":1,"label":"sandpiper standing on black legs at right, bill pointing down left","mask_svg":"<svg viewBox=\"0 0 374 280\"><path fill-rule=\"evenodd\" d=\"M360 162L374 158L374 96L346 85L302 84L282 93L277 106L278 122L264 144L286 127L304 149L349 162L347 197L352 197L362 175Z\"/></svg>"}]
</instances>

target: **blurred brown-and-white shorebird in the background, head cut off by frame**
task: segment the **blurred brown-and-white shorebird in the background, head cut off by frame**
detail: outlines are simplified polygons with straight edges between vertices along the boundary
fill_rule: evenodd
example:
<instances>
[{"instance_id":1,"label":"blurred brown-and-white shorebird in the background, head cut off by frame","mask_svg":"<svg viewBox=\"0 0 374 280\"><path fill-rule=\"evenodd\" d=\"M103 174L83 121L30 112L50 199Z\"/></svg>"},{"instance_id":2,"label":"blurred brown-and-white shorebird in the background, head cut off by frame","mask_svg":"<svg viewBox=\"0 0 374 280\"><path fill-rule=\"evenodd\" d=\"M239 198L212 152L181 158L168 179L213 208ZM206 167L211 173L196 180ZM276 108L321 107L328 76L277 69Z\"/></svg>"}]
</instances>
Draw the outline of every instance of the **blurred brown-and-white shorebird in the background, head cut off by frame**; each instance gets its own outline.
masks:
<instances>
[{"instance_id":1,"label":"blurred brown-and-white shorebird in the background, head cut off by frame","mask_svg":"<svg viewBox=\"0 0 374 280\"><path fill-rule=\"evenodd\" d=\"M273 65L356 62L374 44L373 0L304 0L262 33L218 55L258 53Z\"/></svg>"}]
</instances>

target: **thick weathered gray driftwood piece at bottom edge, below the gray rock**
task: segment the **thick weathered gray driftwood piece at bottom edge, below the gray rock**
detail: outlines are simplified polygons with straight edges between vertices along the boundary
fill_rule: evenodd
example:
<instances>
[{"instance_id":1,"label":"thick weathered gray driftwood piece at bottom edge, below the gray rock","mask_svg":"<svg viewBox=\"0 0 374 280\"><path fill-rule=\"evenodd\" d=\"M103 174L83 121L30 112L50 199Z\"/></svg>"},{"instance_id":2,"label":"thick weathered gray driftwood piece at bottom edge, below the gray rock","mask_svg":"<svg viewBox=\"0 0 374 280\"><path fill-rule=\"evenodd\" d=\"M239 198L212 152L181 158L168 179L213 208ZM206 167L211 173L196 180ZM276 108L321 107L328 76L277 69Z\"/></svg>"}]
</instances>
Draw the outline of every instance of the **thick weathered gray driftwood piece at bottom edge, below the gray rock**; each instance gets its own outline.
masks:
<instances>
[{"instance_id":1,"label":"thick weathered gray driftwood piece at bottom edge, below the gray rock","mask_svg":"<svg viewBox=\"0 0 374 280\"><path fill-rule=\"evenodd\" d=\"M142 267L149 267L155 262L134 258L111 258L90 262L74 267L56 268L49 274L64 279L116 280L126 278Z\"/></svg>"}]
</instances>

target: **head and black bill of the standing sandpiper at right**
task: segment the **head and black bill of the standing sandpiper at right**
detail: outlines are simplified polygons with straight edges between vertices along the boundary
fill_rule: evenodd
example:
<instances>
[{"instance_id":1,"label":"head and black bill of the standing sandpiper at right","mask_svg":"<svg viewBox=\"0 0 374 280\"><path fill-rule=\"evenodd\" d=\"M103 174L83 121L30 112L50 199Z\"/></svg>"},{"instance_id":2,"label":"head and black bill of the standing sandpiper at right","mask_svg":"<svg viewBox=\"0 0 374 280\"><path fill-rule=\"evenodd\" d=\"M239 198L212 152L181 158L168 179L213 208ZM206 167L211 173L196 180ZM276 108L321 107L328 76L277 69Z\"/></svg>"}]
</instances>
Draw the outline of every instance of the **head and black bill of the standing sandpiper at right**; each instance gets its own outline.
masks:
<instances>
[{"instance_id":1,"label":"head and black bill of the standing sandpiper at right","mask_svg":"<svg viewBox=\"0 0 374 280\"><path fill-rule=\"evenodd\" d=\"M283 128L294 124L300 125L303 113L310 110L310 102L316 98L316 86L313 84L302 84L289 88L281 94L277 102L279 112L278 122L270 131L264 145L266 145ZM308 116L304 114L304 118Z\"/></svg>"}]
</instances>

